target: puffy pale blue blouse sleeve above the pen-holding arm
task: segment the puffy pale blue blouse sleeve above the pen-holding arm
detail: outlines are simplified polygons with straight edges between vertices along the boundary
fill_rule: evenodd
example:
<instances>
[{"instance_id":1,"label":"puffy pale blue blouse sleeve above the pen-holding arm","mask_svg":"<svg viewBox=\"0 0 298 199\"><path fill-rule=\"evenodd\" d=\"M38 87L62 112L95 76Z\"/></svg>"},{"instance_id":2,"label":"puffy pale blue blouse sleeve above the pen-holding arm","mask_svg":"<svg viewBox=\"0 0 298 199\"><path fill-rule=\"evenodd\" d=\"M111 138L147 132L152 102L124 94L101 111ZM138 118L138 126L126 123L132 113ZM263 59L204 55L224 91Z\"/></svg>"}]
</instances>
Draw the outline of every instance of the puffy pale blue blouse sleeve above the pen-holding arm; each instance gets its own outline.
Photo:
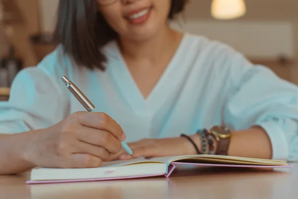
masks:
<instances>
[{"instance_id":1,"label":"puffy pale blue blouse sleeve above the pen-holding arm","mask_svg":"<svg viewBox=\"0 0 298 199\"><path fill-rule=\"evenodd\" d=\"M19 133L46 128L61 121L67 100L61 85L39 67L20 71L8 101L0 102L0 133Z\"/></svg>"}]
</instances>

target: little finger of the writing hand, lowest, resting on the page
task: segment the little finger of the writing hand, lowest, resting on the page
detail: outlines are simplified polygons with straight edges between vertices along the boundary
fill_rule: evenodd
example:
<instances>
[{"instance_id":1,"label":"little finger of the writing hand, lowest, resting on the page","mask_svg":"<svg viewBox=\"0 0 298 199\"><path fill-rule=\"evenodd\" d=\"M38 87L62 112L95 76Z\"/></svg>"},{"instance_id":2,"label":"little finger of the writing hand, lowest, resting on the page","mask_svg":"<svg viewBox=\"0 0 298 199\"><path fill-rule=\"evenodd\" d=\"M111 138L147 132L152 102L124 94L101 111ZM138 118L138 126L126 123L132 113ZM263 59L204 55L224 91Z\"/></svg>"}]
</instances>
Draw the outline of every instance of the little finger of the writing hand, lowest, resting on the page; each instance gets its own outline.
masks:
<instances>
[{"instance_id":1,"label":"little finger of the writing hand, lowest, resting on the page","mask_svg":"<svg viewBox=\"0 0 298 199\"><path fill-rule=\"evenodd\" d=\"M96 156L74 153L63 162L62 168L94 168L100 167L102 160Z\"/></svg>"}]
</instances>

